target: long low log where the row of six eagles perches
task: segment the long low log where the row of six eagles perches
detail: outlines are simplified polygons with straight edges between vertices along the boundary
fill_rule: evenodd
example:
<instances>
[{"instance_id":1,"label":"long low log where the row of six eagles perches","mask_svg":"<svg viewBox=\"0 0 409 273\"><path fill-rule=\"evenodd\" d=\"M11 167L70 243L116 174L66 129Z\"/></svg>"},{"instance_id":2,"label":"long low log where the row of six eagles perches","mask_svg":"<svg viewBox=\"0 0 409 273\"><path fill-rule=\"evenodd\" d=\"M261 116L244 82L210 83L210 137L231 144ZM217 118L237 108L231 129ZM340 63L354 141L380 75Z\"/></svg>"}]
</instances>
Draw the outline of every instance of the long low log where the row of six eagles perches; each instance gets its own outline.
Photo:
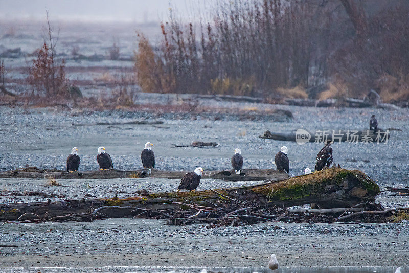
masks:
<instances>
[{"instance_id":1,"label":"long low log where the row of six eagles perches","mask_svg":"<svg viewBox=\"0 0 409 273\"><path fill-rule=\"evenodd\" d=\"M169 178L181 179L188 171L164 171L158 169L151 169L149 175L147 169L138 169L132 171L123 171L116 169L109 170L95 170L95 171L80 171L80 172L66 172L62 170L43 170L37 167L28 167L24 169L17 169L14 171L6 171L0 173L0 178L44 178L44 179L112 179L112 178ZM284 172L268 169L244 169L240 175L229 170L223 171L205 171L203 173L204 179L221 179L224 181L263 181L273 180L278 181L288 178Z\"/></svg>"}]
</instances>

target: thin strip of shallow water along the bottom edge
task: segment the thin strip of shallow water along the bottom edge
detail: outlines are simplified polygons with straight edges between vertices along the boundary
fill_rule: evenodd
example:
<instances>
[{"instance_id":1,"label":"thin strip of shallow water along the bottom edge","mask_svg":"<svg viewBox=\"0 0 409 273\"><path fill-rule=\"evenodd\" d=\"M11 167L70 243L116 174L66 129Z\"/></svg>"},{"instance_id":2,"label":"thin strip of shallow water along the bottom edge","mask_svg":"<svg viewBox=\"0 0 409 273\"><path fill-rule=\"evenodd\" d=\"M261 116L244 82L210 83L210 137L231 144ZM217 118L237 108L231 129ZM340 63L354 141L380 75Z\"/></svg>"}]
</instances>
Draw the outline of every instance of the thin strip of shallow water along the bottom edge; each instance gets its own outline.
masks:
<instances>
[{"instance_id":1,"label":"thin strip of shallow water along the bottom edge","mask_svg":"<svg viewBox=\"0 0 409 273\"><path fill-rule=\"evenodd\" d=\"M331 267L281 267L272 271L267 267L140 267L140 266L114 266L100 268L85 267L32 267L32 268L4 268L0 272L143 272L143 273L394 273L397 267L355 267L355 266L331 266ZM409 267L402 267L402 273L409 272Z\"/></svg>"}]
</instances>

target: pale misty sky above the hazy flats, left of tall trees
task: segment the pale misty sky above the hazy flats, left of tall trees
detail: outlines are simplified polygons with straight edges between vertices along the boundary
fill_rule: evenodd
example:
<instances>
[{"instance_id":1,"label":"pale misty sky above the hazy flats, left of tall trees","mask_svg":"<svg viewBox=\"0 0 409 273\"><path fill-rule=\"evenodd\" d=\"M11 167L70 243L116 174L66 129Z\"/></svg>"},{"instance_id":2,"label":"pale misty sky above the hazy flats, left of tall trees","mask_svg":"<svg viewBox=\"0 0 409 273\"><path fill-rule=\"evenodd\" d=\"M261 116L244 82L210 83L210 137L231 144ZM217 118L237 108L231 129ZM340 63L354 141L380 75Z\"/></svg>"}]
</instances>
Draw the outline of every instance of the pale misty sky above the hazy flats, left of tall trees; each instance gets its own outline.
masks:
<instances>
[{"instance_id":1,"label":"pale misty sky above the hazy flats, left of tall trees","mask_svg":"<svg viewBox=\"0 0 409 273\"><path fill-rule=\"evenodd\" d=\"M207 13L217 0L0 0L0 19L44 19L45 9L53 20L147 22L167 17L169 7L182 19Z\"/></svg>"}]
</instances>

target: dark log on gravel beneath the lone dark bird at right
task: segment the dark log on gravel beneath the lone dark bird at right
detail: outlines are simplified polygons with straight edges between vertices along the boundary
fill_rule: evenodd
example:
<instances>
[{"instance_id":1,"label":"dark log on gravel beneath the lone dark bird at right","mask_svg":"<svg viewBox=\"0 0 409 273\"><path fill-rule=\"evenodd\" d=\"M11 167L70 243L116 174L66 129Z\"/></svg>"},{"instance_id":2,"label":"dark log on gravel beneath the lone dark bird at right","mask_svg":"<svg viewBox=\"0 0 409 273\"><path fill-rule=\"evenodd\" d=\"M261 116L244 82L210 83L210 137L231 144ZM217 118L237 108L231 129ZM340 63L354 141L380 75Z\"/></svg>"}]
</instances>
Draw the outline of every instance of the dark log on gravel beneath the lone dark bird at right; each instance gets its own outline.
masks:
<instances>
[{"instance_id":1,"label":"dark log on gravel beneath the lone dark bird at right","mask_svg":"<svg viewBox=\"0 0 409 273\"><path fill-rule=\"evenodd\" d=\"M305 131L307 133L307 131ZM310 138L303 139L305 142L315 142L316 140L320 140L323 142L323 135L327 135L327 139L332 140L333 142L387 142L390 138L390 134L388 131L383 131L379 129L378 131L370 131L370 130L325 130L324 132L320 132L320 135L315 135L315 133L308 132ZM290 133L272 133L270 131L265 131L263 135L259 136L260 139L271 139L271 140L280 140L280 141L292 141L297 142L297 132L292 131ZM303 141L302 139L300 139Z\"/></svg>"}]
</instances>

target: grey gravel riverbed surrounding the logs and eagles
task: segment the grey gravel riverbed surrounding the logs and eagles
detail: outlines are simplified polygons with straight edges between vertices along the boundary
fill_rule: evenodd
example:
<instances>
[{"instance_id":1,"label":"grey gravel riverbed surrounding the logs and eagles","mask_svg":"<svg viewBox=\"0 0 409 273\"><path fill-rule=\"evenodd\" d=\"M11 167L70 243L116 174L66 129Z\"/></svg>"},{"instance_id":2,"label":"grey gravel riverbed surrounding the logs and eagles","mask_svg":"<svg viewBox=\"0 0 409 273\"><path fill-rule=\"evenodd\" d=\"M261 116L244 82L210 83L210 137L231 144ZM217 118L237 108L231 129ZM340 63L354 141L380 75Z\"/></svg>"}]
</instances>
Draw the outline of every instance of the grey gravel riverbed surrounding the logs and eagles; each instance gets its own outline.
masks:
<instances>
[{"instance_id":1,"label":"grey gravel riverbed surrounding the logs and eagles","mask_svg":"<svg viewBox=\"0 0 409 273\"><path fill-rule=\"evenodd\" d=\"M145 102L156 95L141 94ZM383 109L293 107L257 103L220 102L201 99L200 105L247 109L250 113L285 109L290 121L238 120L217 113L145 113L107 110L78 111L54 108L0 108L0 168L37 166L63 169L72 147L79 148L80 170L98 169L97 148L105 146L117 169L141 167L144 144L154 143L157 168L206 171L230 169L230 158L240 148L245 168L275 168L274 154L288 147L290 174L313 169L322 144L260 139L265 130L289 132L307 130L365 129L372 113L379 126L391 130L384 144L333 144L334 162L347 169L359 169L373 178L381 189L405 187L409 176L409 111ZM73 123L163 121L150 125L73 126ZM171 148L171 144L215 141L216 149ZM177 180L123 178L64 180L68 187L53 187L44 179L0 180L0 202L52 201L76 198L126 197L139 189L150 192L174 191ZM206 179L199 189L240 186ZM42 192L54 197L25 196ZM13 194L14 193L14 194ZM16 194L19 193L19 194ZM92 196L92 197L90 197ZM409 198L383 192L377 201L384 206L409 206ZM210 229L202 225L167 226L162 220L109 219L92 223L4 224L1 226L1 267L10 266L260 266L276 253L282 265L409 265L407 222L399 224L286 224L263 223L247 227ZM37 263L39 262L39 263Z\"/></svg>"}]
</instances>

